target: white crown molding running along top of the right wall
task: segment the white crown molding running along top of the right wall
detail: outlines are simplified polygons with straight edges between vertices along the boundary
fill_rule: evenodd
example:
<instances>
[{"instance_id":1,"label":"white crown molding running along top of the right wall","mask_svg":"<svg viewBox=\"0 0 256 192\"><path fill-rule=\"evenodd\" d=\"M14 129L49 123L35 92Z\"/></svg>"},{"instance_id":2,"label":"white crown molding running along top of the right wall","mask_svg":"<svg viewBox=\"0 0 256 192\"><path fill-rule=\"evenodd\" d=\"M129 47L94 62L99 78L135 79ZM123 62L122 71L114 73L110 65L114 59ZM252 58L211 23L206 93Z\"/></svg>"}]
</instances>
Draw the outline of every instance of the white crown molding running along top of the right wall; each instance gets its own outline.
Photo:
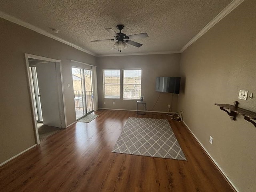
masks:
<instances>
[{"instance_id":1,"label":"white crown molding running along top of the right wall","mask_svg":"<svg viewBox=\"0 0 256 192\"><path fill-rule=\"evenodd\" d=\"M194 36L186 45L182 47L180 52L182 53L186 48L198 40L203 34L205 34L210 28L216 25L220 20L227 16L232 10L239 6L244 0L233 0L228 6L226 6L215 18L213 18L196 36Z\"/></svg>"}]
</instances>

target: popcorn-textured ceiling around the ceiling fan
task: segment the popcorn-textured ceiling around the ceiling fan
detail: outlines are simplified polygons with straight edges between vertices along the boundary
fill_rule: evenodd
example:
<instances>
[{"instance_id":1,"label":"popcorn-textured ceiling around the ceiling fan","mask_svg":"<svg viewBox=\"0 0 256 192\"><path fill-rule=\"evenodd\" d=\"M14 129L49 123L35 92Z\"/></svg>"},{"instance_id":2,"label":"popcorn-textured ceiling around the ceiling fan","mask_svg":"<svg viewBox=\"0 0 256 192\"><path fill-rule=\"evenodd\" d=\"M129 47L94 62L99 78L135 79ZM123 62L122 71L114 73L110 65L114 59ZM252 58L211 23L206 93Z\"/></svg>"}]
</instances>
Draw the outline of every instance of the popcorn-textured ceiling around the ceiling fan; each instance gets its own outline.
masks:
<instances>
[{"instance_id":1,"label":"popcorn-textured ceiling around the ceiling fan","mask_svg":"<svg viewBox=\"0 0 256 192\"><path fill-rule=\"evenodd\" d=\"M123 24L126 35L146 32L122 53L180 50L232 0L2 0L0 11L52 33L96 55L118 54L104 27Z\"/></svg>"}]
</instances>

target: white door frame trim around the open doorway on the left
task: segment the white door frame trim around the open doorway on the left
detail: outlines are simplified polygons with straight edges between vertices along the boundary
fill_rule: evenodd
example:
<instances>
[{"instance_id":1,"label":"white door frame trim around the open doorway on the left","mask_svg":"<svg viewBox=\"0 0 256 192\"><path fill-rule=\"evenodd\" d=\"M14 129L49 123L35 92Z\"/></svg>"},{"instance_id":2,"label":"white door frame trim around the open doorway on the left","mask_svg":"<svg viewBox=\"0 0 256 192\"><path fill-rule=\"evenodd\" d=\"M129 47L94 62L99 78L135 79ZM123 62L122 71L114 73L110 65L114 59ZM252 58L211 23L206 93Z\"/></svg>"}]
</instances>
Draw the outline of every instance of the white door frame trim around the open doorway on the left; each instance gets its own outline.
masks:
<instances>
[{"instance_id":1,"label":"white door frame trim around the open doorway on the left","mask_svg":"<svg viewBox=\"0 0 256 192\"><path fill-rule=\"evenodd\" d=\"M61 79L61 87L60 90L62 90L62 92L60 93L58 91L59 97L58 100L59 101L59 105L60 106L60 115L62 117L63 120L63 124L62 127L66 128L67 127L67 118L66 118L66 104L65 104L65 98L64 98L64 86L63 86L63 77L62 77L62 65L61 65L61 61L60 60L56 60L56 59L52 59L52 58L47 58L47 57L42 57L42 56L37 56L37 55L32 55L32 54L27 54L25 53L25 59L26 59L26 68L27 68L27 78L28 78L28 89L29 89L29 97L30 97L30 108L31 108L31 112L32 112L32 121L33 121L33 126L34 126L34 133L35 133L35 139L36 139L36 143L40 144L40 140L39 140L39 134L38 134L38 128L37 128L37 122L36 122L36 112L35 112L35 103L33 100L33 93L32 93L32 79L30 78L30 71L29 71L29 61L28 58L32 58L32 59L39 59L39 60L44 60L44 61L49 61L49 62L55 62L56 65L60 68L59 74L60 74L60 79ZM58 82L57 82L58 83ZM60 94L62 94L62 96L60 96ZM62 121L61 120L61 121Z\"/></svg>"}]
</instances>

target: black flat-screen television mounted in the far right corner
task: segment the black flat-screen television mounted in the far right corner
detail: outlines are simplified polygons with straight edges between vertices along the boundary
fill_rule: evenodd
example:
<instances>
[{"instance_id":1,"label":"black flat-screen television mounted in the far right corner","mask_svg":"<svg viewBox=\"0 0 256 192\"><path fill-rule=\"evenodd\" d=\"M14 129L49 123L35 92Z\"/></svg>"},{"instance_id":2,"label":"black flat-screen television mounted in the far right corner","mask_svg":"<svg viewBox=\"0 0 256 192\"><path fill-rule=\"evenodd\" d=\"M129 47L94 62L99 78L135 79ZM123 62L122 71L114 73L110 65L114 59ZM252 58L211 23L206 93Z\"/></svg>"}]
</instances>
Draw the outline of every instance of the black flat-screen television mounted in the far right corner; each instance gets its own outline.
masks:
<instances>
[{"instance_id":1,"label":"black flat-screen television mounted in the far right corner","mask_svg":"<svg viewBox=\"0 0 256 192\"><path fill-rule=\"evenodd\" d=\"M180 77L157 77L156 91L180 94Z\"/></svg>"}]
</instances>

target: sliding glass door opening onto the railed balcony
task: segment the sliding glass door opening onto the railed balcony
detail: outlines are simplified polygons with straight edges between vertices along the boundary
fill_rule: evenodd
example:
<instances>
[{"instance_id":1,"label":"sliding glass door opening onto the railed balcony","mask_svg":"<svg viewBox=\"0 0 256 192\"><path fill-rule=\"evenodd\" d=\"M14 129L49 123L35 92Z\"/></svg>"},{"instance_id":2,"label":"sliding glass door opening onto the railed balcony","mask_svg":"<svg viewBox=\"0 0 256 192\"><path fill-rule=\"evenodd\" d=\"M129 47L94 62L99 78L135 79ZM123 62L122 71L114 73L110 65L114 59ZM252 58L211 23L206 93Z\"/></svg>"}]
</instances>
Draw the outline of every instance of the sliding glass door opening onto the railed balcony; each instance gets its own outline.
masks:
<instances>
[{"instance_id":1,"label":"sliding glass door opening onto the railed balcony","mask_svg":"<svg viewBox=\"0 0 256 192\"><path fill-rule=\"evenodd\" d=\"M76 120L94 111L92 70L72 67Z\"/></svg>"}]
</instances>

